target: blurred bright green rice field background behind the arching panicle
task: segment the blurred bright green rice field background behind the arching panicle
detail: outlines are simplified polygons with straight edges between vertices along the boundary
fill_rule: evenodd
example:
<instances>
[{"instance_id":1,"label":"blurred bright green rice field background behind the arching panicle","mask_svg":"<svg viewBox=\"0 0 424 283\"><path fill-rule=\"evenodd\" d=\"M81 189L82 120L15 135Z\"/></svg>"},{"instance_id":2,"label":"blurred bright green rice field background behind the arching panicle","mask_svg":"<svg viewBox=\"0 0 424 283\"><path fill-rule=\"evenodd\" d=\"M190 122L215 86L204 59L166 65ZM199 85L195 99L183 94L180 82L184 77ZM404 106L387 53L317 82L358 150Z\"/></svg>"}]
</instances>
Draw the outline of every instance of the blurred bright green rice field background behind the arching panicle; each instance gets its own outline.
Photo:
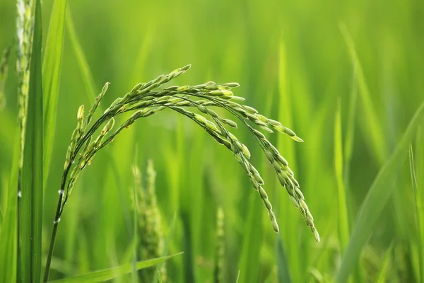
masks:
<instances>
[{"instance_id":1,"label":"blurred bright green rice field background behind the arching panicle","mask_svg":"<svg viewBox=\"0 0 424 283\"><path fill-rule=\"evenodd\" d=\"M45 36L51 9L52 0L43 1ZM366 243L353 247L358 258L343 255L355 241L352 237L349 242L349 236L367 192L424 100L423 1L71 0L66 13L89 69L84 73L78 64L66 28L43 214L46 254L79 105L89 107L106 81L112 84L103 106L136 83L186 64L192 69L172 84L237 81L241 87L235 95L305 140L299 144L267 134L295 172L322 241L314 242L245 129L235 134L249 146L252 162L264 176L279 235L232 154L191 120L167 110L120 134L83 172L61 219L52 279L125 263L133 237L131 166L137 160L143 171L152 158L169 252L184 251L167 262L172 282L213 282L218 207L225 213L225 282L235 282L239 270L239 282L284 282L285 265L293 282L333 282L346 261L352 264L352 282L420 282L424 240L416 225L408 151L402 151L399 168L379 186L387 191L387 201L373 199L370 207L381 209L363 215L370 220L364 222L370 231L355 232ZM1 0L0 51L13 42L15 33L16 3ZM6 108L0 110L1 204L6 202L16 142L15 53ZM334 137L337 129L340 148L340 139ZM412 140L418 195L423 195L424 141L416 132ZM337 158L343 163L341 171L336 171Z\"/></svg>"}]
</instances>

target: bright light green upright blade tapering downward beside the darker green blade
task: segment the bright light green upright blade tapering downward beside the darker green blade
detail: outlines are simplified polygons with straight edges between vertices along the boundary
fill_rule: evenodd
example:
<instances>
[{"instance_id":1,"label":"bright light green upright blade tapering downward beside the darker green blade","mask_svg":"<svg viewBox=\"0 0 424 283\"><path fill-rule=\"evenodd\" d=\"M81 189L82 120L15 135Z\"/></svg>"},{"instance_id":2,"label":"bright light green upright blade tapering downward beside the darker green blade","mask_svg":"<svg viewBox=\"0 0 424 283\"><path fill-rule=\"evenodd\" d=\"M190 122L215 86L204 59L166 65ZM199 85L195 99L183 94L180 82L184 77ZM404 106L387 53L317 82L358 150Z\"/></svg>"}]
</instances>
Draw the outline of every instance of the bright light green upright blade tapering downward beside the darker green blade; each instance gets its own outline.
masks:
<instances>
[{"instance_id":1,"label":"bright light green upright blade tapering downward beside the darker green blade","mask_svg":"<svg viewBox=\"0 0 424 283\"><path fill-rule=\"evenodd\" d=\"M57 112L57 98L59 97L59 81L61 74L61 61L64 50L64 22L66 0L53 2L50 16L49 32L45 47L45 57L42 64L42 89L44 93L44 173L45 183L49 171L52 155L54 122Z\"/></svg>"}]
</instances>

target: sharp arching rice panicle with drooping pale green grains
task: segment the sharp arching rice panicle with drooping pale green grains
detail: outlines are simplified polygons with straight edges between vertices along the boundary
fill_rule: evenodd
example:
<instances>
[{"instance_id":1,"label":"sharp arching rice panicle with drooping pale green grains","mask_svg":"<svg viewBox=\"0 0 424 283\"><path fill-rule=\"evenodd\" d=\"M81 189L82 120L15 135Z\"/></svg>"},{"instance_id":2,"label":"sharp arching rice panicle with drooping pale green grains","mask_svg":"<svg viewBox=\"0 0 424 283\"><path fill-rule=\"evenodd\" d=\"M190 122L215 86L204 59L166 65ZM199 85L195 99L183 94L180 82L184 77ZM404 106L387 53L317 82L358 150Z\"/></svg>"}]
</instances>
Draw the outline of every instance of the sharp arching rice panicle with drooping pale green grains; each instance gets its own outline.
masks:
<instances>
[{"instance_id":1,"label":"sharp arching rice panicle with drooping pale green grains","mask_svg":"<svg viewBox=\"0 0 424 283\"><path fill-rule=\"evenodd\" d=\"M249 161L249 149L247 149L247 146L242 144L237 137L235 137L235 135L229 132L225 127L237 128L237 122L220 117L218 113L211 109L211 107L217 107L230 112L230 114L237 118L242 125L245 125L245 127L249 129L249 132L251 132L254 139L257 141L259 146L261 146L266 158L276 171L281 185L287 190L290 200L292 200L295 207L300 210L307 226L310 227L316 240L319 241L319 234L317 229L315 229L314 219L307 207L307 204L305 203L305 197L300 190L299 183L295 180L293 171L291 171L288 166L288 162L285 158L283 158L283 156L281 156L278 149L276 149L276 147L273 146L268 139L266 139L266 136L258 129L254 129L252 126L256 125L259 128L264 129L266 132L273 132L273 130L276 130L277 132L287 134L295 141L302 142L302 139L300 139L300 137L298 137L291 129L281 125L280 122L271 120L264 115L259 114L256 109L249 107L248 105L240 104L244 101L244 98L234 96L232 93L232 88L238 87L238 83L215 83L213 81L208 81L207 83L196 86L169 86L164 89L158 89L158 87L164 83L184 74L189 68L190 65L187 65L186 67L175 69L170 74L160 75L156 79L148 81L147 83L138 83L131 89L131 91L129 91L129 93L126 93L124 97L114 100L110 107L107 108L102 116L91 126L90 123L93 113L98 107L100 100L105 95L109 83L106 83L103 87L102 92L98 98L96 98L95 103L86 118L84 118L83 115L84 108L81 106L77 115L77 127L72 134L71 145L69 146L68 153L66 155L66 174L71 168L76 158L76 154L80 151L80 149L83 150L80 153L78 163L73 167L73 171L71 172L71 176L66 187L65 200L61 204L61 209L63 210L64 204L71 193L78 174L83 170L83 168L90 164L95 153L97 153L106 144L112 142L114 137L116 137L122 129L129 127L129 125L134 123L140 117L148 117L155 114L155 112L170 109L189 117L189 119L196 122L197 125L210 134L213 139L218 141L219 144L224 145L232 152L232 154L234 154L235 159L240 163L249 176L249 180L252 183L254 190L257 190L264 202L273 230L278 233L279 229L276 216L273 213L268 195L264 190L264 180L261 178L257 169L254 168L252 163ZM199 110L199 112L204 115L188 110L189 108ZM114 126L114 117L124 112L133 112L133 114L121 126L114 130L114 132L108 134ZM97 139L92 141L91 139L96 129L99 129L104 124L105 126L103 127L100 135Z\"/></svg>"}]
</instances>

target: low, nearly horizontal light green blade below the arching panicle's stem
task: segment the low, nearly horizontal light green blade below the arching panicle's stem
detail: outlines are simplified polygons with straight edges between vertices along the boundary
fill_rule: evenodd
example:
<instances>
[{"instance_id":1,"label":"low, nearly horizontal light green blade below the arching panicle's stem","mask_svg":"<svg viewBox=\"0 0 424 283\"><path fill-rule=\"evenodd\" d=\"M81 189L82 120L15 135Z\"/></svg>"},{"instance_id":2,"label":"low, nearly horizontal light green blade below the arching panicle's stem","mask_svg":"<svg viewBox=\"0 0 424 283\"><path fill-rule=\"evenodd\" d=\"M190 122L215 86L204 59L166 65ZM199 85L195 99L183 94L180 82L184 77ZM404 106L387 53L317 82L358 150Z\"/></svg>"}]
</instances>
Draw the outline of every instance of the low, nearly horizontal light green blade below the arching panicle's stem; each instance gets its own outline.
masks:
<instances>
[{"instance_id":1,"label":"low, nearly horizontal light green blade below the arching panicle's stem","mask_svg":"<svg viewBox=\"0 0 424 283\"><path fill-rule=\"evenodd\" d=\"M181 255L182 253L176 253L175 255L169 255L163 258L155 258L152 260L143 260L143 261L139 261L136 264L136 268L137 270L141 270L143 268L146 267L151 267L153 265L157 265L160 262L163 262L165 260L169 260L170 258L173 258L177 255ZM122 276L122 275L126 275L129 272L131 272L132 270L132 263L128 263L126 265L121 265L119 267L112 267L112 268L108 268L106 270L98 270L95 272L90 272L87 273L85 275L78 275L75 277L71 277L71 278L66 278L66 279L60 279L57 281L53 281L54 283L59 283L59 282L63 282L63 283L71 283L71 282L76 282L76 283L93 283L93 282L105 282L107 280L111 280L114 279L118 276Z\"/></svg>"}]
</instances>

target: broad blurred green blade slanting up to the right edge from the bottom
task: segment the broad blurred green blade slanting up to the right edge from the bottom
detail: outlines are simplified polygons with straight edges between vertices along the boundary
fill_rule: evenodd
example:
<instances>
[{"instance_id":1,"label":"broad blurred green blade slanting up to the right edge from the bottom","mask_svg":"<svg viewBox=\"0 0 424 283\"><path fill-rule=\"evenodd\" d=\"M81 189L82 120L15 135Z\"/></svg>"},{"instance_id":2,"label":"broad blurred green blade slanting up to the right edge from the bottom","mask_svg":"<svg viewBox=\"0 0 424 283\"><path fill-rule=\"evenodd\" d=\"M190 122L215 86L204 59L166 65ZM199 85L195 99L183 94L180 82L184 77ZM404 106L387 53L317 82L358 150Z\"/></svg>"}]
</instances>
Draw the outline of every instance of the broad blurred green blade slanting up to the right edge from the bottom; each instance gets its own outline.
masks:
<instances>
[{"instance_id":1,"label":"broad blurred green blade slanting up to the right edge from the bottom","mask_svg":"<svg viewBox=\"0 0 424 283\"><path fill-rule=\"evenodd\" d=\"M367 192L367 196L358 212L358 219L353 228L351 240L346 248L346 253L343 255L341 267L336 274L336 282L346 282L349 274L357 264L360 252L368 238L370 238L372 229L379 215L382 213L384 205L389 200L394 188L394 178L399 173L399 168L404 162L408 151L408 145L411 143L413 134L416 133L416 128L420 125L423 116L424 103L421 103L413 115L411 122L409 122L401 141L397 144L394 153L384 163L370 190Z\"/></svg>"}]
</instances>

